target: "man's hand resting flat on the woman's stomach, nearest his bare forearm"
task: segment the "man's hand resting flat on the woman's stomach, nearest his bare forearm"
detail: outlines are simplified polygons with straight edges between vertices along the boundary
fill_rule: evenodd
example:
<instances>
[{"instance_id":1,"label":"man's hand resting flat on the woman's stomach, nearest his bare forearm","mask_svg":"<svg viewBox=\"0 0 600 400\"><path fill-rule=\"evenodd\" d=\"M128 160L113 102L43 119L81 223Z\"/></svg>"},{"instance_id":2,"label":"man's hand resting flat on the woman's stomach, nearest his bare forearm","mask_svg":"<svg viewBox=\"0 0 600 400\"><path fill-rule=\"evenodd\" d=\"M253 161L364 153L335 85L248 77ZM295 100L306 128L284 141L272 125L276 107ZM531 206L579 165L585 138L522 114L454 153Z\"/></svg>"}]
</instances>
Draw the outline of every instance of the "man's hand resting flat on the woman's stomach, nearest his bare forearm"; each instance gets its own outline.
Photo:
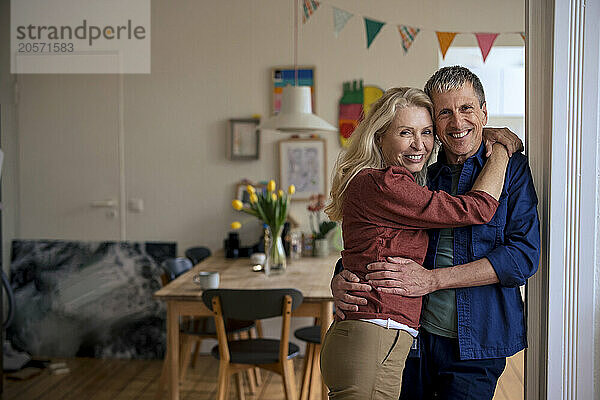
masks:
<instances>
[{"instance_id":1,"label":"man's hand resting flat on the woman's stomach, nearest his bare forearm","mask_svg":"<svg viewBox=\"0 0 600 400\"><path fill-rule=\"evenodd\" d=\"M365 279L374 289L409 297L423 296L438 289L433 271L408 258L388 257L388 261L367 265L367 269L374 272L368 273Z\"/></svg>"}]
</instances>

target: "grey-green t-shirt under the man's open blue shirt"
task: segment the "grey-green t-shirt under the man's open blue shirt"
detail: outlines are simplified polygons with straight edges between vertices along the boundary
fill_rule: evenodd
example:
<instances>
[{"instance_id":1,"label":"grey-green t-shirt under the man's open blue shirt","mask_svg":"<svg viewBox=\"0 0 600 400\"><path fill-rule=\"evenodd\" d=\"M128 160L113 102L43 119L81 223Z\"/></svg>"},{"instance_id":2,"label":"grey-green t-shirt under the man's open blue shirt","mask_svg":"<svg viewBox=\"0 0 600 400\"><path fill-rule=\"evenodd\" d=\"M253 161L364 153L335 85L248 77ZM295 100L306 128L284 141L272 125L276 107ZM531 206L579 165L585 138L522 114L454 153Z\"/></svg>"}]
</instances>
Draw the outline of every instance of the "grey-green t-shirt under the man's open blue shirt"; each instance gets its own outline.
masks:
<instances>
[{"instance_id":1,"label":"grey-green t-shirt under the man's open blue shirt","mask_svg":"<svg viewBox=\"0 0 600 400\"><path fill-rule=\"evenodd\" d=\"M458 192L458 180L462 164L450 165L452 172L452 195ZM452 228L440 229L440 238L436 249L434 268L446 268L454 265L454 231ZM456 291L442 289L429 293L423 298L421 326L429 333L449 338L458 337L458 317L456 313Z\"/></svg>"}]
</instances>

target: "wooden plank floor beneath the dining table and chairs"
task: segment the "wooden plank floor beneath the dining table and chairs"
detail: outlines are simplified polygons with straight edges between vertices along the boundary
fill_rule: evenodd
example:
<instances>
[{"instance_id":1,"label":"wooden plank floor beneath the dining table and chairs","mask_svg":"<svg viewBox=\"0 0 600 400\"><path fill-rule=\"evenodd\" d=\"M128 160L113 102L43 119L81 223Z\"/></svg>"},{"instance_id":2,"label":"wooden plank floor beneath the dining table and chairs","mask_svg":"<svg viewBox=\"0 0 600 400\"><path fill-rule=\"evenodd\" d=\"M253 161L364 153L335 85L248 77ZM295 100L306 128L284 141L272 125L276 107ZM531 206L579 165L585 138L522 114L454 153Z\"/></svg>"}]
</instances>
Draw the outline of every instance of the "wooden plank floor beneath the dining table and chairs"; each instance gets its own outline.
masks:
<instances>
[{"instance_id":1,"label":"wooden plank floor beneath the dining table and chairs","mask_svg":"<svg viewBox=\"0 0 600 400\"><path fill-rule=\"evenodd\" d=\"M71 372L51 375L48 370L24 381L5 380L3 400L133 400L155 399L161 361L121 361L78 358L64 361ZM296 360L296 378L300 380L302 359ZM182 385L181 400L216 398L217 361L202 356L195 369L190 369ZM263 371L263 384L248 400L283 399L281 378ZM166 398L166 394L163 398ZM230 399L236 399L235 389ZM508 360L500 377L494 400L523 399L523 352Z\"/></svg>"}]
</instances>

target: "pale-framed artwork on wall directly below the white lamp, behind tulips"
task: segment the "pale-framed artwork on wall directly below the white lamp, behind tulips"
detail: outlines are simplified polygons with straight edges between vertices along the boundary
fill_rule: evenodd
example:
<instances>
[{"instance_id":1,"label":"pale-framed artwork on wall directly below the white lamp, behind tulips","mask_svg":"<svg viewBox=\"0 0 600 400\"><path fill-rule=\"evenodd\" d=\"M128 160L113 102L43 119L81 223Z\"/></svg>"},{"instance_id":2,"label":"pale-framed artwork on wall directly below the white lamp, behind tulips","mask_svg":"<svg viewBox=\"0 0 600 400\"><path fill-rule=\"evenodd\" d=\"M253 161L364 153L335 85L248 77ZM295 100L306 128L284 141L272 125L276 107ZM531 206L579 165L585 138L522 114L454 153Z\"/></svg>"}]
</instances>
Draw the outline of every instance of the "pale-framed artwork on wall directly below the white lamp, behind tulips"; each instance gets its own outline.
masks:
<instances>
[{"instance_id":1,"label":"pale-framed artwork on wall directly below the white lamp, behind tulips","mask_svg":"<svg viewBox=\"0 0 600 400\"><path fill-rule=\"evenodd\" d=\"M279 141L279 182L296 187L292 200L308 200L313 194L327 195L325 140L286 139Z\"/></svg>"}]
</instances>

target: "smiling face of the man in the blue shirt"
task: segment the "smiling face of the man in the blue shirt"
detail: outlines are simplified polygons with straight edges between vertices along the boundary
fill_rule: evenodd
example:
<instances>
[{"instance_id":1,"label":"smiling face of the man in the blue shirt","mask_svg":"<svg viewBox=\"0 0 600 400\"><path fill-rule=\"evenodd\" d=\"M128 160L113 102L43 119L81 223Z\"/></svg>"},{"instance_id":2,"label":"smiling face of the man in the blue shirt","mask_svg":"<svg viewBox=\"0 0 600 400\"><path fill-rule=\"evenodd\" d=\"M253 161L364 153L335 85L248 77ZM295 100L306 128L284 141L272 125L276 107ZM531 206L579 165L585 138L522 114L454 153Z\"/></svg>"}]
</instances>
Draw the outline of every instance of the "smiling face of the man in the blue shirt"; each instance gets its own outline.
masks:
<instances>
[{"instance_id":1,"label":"smiling face of the man in the blue shirt","mask_svg":"<svg viewBox=\"0 0 600 400\"><path fill-rule=\"evenodd\" d=\"M487 124L485 103L470 83L445 93L432 93L434 123L450 164L462 164L481 145L483 127Z\"/></svg>"}]
</instances>

